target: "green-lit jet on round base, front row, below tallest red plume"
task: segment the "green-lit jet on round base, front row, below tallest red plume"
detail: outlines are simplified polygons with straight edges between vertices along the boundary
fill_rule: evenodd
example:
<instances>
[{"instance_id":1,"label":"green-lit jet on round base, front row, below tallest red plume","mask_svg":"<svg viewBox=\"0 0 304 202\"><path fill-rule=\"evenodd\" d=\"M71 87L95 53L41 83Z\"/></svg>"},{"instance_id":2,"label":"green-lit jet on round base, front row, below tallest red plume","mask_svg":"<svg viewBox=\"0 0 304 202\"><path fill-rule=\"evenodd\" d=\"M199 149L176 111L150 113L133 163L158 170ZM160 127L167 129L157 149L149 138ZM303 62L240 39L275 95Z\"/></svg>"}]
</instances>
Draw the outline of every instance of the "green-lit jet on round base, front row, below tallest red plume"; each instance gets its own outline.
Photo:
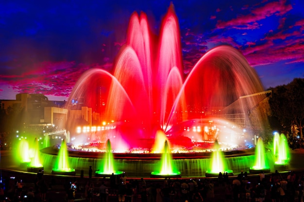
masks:
<instances>
[{"instance_id":1,"label":"green-lit jet on round base, front row, below tallest red plume","mask_svg":"<svg viewBox=\"0 0 304 202\"><path fill-rule=\"evenodd\" d=\"M159 170L152 171L151 177L181 177L181 172L177 171L173 165L172 155L167 140L165 140Z\"/></svg>"}]
</instances>

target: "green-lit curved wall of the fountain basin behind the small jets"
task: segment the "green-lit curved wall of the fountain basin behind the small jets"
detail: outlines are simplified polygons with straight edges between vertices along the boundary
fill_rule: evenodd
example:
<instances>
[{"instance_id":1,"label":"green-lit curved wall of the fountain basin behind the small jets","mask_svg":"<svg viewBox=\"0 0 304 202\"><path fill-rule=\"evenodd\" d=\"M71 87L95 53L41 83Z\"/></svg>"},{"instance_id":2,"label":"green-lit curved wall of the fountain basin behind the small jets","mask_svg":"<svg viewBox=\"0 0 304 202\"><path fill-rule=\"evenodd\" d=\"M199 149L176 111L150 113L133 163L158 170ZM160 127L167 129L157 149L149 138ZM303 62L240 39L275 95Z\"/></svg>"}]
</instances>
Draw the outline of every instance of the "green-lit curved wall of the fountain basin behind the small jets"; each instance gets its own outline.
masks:
<instances>
[{"instance_id":1,"label":"green-lit curved wall of the fountain basin behind the small jets","mask_svg":"<svg viewBox=\"0 0 304 202\"><path fill-rule=\"evenodd\" d=\"M43 165L47 165L45 166L45 171L51 171L53 167L52 162L56 160L57 156L42 154L41 157L43 159ZM235 173L240 171L248 171L249 173L250 167L253 166L254 159L254 154L225 157L227 167ZM271 152L266 152L266 159L270 162L270 165L273 165L274 158ZM92 166L94 171L98 170L101 161L102 159L99 158L68 157L70 167L76 169L77 174L80 174L81 170L86 173L89 166ZM128 177L150 177L151 172L159 167L159 159L115 159L114 161L117 170L125 171ZM182 177L204 177L206 170L209 168L210 159L184 158L173 159L172 162L177 170L181 172ZM274 172L273 166L270 171Z\"/></svg>"}]
</instances>

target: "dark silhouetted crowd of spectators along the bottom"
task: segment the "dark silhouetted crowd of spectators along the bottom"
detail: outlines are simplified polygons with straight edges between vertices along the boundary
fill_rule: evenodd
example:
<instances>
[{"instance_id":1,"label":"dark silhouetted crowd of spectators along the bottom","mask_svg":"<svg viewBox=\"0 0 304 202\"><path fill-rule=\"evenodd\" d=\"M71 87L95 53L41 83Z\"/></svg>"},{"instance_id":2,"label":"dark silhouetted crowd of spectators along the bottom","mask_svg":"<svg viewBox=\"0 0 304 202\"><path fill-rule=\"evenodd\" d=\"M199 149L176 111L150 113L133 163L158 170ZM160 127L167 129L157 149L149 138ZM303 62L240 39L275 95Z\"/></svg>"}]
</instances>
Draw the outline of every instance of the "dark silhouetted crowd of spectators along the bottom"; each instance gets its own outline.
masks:
<instances>
[{"instance_id":1,"label":"dark silhouetted crowd of spectators along the bottom","mask_svg":"<svg viewBox=\"0 0 304 202\"><path fill-rule=\"evenodd\" d=\"M58 184L56 178L45 179L39 171L34 185L26 188L16 179L11 187L14 190L5 193L0 186L0 200L6 196L7 201L51 201L48 191ZM303 173L293 171L258 175L241 171L237 176L220 173L218 177L195 179L128 179L125 173L106 178L62 179L65 182L59 184L63 184L67 202L76 199L85 202L217 202L219 199L225 202L302 202L304 187Z\"/></svg>"}]
</instances>

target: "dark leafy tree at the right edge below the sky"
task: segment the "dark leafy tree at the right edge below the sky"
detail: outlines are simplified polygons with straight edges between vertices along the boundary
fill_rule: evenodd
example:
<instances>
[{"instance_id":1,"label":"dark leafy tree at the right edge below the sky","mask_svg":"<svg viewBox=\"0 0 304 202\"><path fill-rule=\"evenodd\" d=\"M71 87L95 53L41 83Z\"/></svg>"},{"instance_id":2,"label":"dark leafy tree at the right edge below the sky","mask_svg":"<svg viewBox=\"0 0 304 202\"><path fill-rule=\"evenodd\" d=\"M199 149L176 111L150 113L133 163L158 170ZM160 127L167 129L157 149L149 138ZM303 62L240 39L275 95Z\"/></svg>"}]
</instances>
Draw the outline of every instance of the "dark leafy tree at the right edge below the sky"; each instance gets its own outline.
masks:
<instances>
[{"instance_id":1,"label":"dark leafy tree at the right edge below the sky","mask_svg":"<svg viewBox=\"0 0 304 202\"><path fill-rule=\"evenodd\" d=\"M276 117L283 127L297 125L303 138L304 127L304 78L294 78L287 85L277 86L272 90L269 100L272 116ZM292 127L295 136L295 127Z\"/></svg>"}]
</instances>

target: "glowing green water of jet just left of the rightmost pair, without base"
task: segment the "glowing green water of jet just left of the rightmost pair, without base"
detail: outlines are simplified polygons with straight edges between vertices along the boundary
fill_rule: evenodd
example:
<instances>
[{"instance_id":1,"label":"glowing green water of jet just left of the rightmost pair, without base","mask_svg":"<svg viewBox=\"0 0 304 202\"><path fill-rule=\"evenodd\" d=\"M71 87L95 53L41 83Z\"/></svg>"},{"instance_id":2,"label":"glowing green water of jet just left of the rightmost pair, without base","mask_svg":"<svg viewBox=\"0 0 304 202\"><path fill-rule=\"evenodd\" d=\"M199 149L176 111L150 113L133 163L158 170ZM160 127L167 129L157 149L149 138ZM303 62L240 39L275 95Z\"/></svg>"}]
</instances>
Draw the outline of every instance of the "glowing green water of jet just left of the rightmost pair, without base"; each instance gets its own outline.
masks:
<instances>
[{"instance_id":1,"label":"glowing green water of jet just left of the rightmost pair, without base","mask_svg":"<svg viewBox=\"0 0 304 202\"><path fill-rule=\"evenodd\" d=\"M266 161L264 143L261 138L257 140L255 147L255 162L252 170L269 169L268 162Z\"/></svg>"}]
</instances>

